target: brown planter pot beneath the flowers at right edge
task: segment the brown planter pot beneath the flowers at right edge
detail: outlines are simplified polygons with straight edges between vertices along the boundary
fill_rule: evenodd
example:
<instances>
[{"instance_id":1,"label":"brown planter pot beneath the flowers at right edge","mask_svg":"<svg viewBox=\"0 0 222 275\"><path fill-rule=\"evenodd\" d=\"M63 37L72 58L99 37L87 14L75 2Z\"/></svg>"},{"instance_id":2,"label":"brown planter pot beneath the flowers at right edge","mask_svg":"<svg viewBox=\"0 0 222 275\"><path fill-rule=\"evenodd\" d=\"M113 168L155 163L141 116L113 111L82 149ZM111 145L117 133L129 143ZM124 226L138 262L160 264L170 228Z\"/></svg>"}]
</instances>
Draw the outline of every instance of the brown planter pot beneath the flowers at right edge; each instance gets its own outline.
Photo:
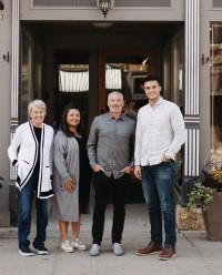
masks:
<instances>
[{"instance_id":1,"label":"brown planter pot beneath the flowers at right edge","mask_svg":"<svg viewBox=\"0 0 222 275\"><path fill-rule=\"evenodd\" d=\"M209 240L222 242L222 192L214 193L203 217Z\"/></svg>"}]
</instances>

